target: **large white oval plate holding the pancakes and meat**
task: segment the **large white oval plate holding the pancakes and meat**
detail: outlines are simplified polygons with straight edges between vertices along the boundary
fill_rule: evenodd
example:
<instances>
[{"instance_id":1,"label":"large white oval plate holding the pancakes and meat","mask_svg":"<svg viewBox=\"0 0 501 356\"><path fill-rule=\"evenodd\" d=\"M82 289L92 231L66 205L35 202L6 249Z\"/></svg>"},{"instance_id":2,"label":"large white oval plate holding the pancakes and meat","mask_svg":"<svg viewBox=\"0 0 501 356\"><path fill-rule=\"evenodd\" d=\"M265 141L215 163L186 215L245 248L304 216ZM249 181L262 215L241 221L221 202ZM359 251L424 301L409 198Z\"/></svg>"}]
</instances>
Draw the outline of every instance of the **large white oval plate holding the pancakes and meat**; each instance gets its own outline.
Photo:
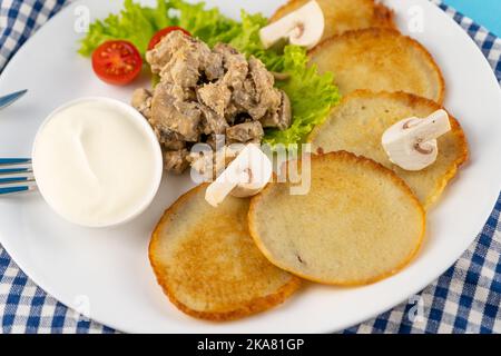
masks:
<instances>
[{"instance_id":1,"label":"large white oval plate holding the pancakes and meat","mask_svg":"<svg viewBox=\"0 0 501 356\"><path fill-rule=\"evenodd\" d=\"M267 16L282 2L239 1L243 8ZM208 3L233 17L239 12L230 0ZM108 230L65 222L37 194L1 198L1 244L49 294L69 307L88 309L92 319L124 332L334 332L385 312L420 291L473 243L495 202L501 182L501 92L477 46L440 9L426 0L386 3L396 10L399 26L406 33L410 17L423 11L423 32L412 36L429 48L442 68L448 83L445 106L460 120L471 148L470 164L429 216L429 236L422 250L402 273L358 288L308 285L283 306L238 322L214 324L185 316L157 286L147 246L164 208L190 187L186 177L167 177L146 214L129 225ZM29 93L0 113L0 157L29 155L40 122L67 100L81 96L129 100L132 87L101 83L89 60L77 55L81 34L73 31L73 12L79 4L88 6L92 18L104 18L117 11L121 1L71 4L11 60L0 78L0 92L28 88ZM148 85L147 78L143 85Z\"/></svg>"}]
</instances>

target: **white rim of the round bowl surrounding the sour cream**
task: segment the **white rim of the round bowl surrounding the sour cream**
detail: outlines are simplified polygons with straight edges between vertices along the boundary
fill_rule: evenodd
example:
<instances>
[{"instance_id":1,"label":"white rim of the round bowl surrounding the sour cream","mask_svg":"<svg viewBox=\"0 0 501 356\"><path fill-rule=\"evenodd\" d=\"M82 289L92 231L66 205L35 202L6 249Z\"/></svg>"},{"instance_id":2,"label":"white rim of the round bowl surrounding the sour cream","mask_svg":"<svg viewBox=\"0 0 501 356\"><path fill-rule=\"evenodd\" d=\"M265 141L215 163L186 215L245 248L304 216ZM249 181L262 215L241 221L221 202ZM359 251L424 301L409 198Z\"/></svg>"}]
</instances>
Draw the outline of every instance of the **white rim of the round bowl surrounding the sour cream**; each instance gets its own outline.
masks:
<instances>
[{"instance_id":1,"label":"white rim of the round bowl surrounding the sour cream","mask_svg":"<svg viewBox=\"0 0 501 356\"><path fill-rule=\"evenodd\" d=\"M118 216L110 221L89 222L87 220L84 221L84 219L79 220L79 219L75 218L75 216L70 216L69 214L67 214L67 211L65 211L65 209L60 205L58 205L56 202L56 200L51 196L50 189L48 189L48 185L46 184L47 178L37 180L37 172L40 174L40 171L41 171L41 162L39 159L37 147L40 146L39 141L42 136L41 132L43 131L47 123L50 122L59 112L61 112L65 109L68 109L73 106L78 106L80 103L92 102L92 101L106 103L110 108L116 107L117 110L120 111L120 113L124 113L124 112L126 113L124 116L124 119L132 120L132 121L135 121L135 123L139 123L138 127L140 128L140 130L143 130L143 132L140 132L140 134L147 137L147 139L149 140L148 144L150 144L153 147L151 151L155 155L155 157L153 157L153 161L154 161L153 169L149 172L151 175L153 179L150 182L148 182L147 188L143 192L144 199L137 200L136 202L138 202L138 204L135 206L131 206L129 208L129 210L127 211L127 214L124 214L122 216ZM35 137L31 157L32 157L32 164L33 164L33 174L35 174L35 178L37 180L38 189L39 189L40 194L42 195L43 199L46 200L46 202L52 208L52 210L55 210L59 216L61 216L62 218L65 218L66 220L72 222L72 224L85 226L85 227L92 227L92 228L104 228L104 227L122 225L122 224L126 224L126 222L132 220L134 218L138 217L140 214L143 214L149 207L149 205L151 204L151 201L154 200L154 198L158 191L158 188L159 188L160 181L161 181L163 170L164 170L160 144L158 142L154 130L149 126L148 121L144 118L144 116L140 112L138 112L136 109L134 109L132 107L124 103L122 101L109 99L109 98L105 98L105 97L80 98L77 100L69 101L69 102L60 106L56 110L53 110L43 120L40 128L38 129L38 132ZM114 157L110 157L109 159L114 159ZM134 162L132 162L132 165L134 165Z\"/></svg>"}]
</instances>

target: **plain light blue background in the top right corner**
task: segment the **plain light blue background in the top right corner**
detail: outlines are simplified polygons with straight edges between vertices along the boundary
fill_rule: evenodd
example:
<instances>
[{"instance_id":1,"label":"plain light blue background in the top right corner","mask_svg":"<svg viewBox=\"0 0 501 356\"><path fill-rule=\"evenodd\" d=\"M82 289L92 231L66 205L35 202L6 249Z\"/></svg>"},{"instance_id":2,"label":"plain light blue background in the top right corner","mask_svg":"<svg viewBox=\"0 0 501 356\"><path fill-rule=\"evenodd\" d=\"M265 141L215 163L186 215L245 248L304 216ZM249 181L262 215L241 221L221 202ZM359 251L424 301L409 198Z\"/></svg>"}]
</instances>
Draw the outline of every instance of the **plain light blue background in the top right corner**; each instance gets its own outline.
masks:
<instances>
[{"instance_id":1,"label":"plain light blue background in the top right corner","mask_svg":"<svg viewBox=\"0 0 501 356\"><path fill-rule=\"evenodd\" d=\"M443 0L443 2L501 36L501 0Z\"/></svg>"}]
</instances>

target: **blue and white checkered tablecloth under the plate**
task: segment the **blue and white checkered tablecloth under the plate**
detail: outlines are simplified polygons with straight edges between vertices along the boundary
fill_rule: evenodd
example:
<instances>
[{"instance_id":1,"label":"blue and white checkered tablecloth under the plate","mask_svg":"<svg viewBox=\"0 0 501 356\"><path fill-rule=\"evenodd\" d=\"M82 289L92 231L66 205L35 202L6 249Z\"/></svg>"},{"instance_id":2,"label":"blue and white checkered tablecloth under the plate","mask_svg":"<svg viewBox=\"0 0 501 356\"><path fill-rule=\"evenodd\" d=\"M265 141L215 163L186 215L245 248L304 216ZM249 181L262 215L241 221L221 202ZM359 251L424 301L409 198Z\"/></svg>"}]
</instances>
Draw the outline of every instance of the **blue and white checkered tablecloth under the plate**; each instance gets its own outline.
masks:
<instances>
[{"instance_id":1,"label":"blue and white checkered tablecloth under the plate","mask_svg":"<svg viewBox=\"0 0 501 356\"><path fill-rule=\"evenodd\" d=\"M65 2L67 0L0 0L0 71L16 50ZM439 0L433 2L473 38L501 81L501 39ZM501 196L475 243L410 303L345 333L501 333L500 210ZM1 246L0 325L0 333L114 333L47 295Z\"/></svg>"}]
</instances>

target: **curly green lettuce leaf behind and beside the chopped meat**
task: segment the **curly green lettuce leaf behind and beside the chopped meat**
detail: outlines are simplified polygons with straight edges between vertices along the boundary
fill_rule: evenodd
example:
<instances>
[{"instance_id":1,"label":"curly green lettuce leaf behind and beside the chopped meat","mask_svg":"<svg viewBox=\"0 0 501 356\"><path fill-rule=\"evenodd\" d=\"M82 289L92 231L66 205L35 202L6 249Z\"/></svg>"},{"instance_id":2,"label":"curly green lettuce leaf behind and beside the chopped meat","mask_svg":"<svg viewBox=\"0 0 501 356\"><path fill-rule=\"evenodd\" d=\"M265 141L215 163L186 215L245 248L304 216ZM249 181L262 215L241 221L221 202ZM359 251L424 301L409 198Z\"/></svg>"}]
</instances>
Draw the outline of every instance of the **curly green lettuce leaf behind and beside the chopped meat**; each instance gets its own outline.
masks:
<instances>
[{"instance_id":1,"label":"curly green lettuce leaf behind and beside the chopped meat","mask_svg":"<svg viewBox=\"0 0 501 356\"><path fill-rule=\"evenodd\" d=\"M340 101L340 93L332 73L320 75L315 66L308 65L305 49L297 46L264 49L259 29L266 23L267 19L262 14L245 11L242 11L240 21L235 21L217 8L205 9L203 2L157 0L157 6L150 8L126 0L119 14L110 14L90 26L80 42L79 53L89 57L102 42L121 39L132 42L144 56L151 37L168 26L180 26L209 46L229 43L246 56L261 59L268 70L287 75L288 79L276 86L291 99L293 123L284 131L266 130L264 141L272 146L299 144L325 120L331 108Z\"/></svg>"}]
</instances>

